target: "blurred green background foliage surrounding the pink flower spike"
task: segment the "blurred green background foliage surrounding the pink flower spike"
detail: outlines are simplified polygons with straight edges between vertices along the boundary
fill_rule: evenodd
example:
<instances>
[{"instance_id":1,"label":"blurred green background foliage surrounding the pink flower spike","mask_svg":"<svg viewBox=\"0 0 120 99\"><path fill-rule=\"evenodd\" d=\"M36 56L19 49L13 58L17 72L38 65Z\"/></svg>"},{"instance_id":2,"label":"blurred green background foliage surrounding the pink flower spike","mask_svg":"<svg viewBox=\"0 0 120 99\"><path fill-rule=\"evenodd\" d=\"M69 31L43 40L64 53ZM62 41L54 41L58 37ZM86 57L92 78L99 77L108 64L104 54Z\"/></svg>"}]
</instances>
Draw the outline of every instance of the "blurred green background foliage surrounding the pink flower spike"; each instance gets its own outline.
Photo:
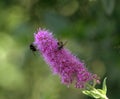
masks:
<instances>
[{"instance_id":1,"label":"blurred green background foliage surrounding the pink flower spike","mask_svg":"<svg viewBox=\"0 0 120 99\"><path fill-rule=\"evenodd\" d=\"M107 76L108 97L120 98L120 0L0 0L0 99L92 99L29 50L39 27L67 40L91 72Z\"/></svg>"}]
</instances>

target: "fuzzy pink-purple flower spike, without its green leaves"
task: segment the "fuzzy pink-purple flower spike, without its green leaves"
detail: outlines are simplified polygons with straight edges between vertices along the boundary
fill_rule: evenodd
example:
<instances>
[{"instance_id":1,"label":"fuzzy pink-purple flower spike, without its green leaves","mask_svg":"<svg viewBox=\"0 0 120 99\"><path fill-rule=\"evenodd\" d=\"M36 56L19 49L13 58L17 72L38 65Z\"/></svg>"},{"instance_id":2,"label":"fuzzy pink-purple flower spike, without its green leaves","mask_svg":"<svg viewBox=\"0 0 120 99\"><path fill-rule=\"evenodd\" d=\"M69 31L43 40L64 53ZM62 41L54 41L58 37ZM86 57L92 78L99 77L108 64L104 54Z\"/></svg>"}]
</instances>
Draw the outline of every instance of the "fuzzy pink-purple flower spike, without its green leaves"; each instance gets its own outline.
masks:
<instances>
[{"instance_id":1,"label":"fuzzy pink-purple flower spike, without its green leaves","mask_svg":"<svg viewBox=\"0 0 120 99\"><path fill-rule=\"evenodd\" d=\"M63 45L59 45L59 41L48 30L39 29L34 34L34 39L33 44L42 54L53 73L60 76L63 84L69 86L74 83L76 88L84 88L87 82L95 78L87 70L85 64Z\"/></svg>"}]
</instances>

